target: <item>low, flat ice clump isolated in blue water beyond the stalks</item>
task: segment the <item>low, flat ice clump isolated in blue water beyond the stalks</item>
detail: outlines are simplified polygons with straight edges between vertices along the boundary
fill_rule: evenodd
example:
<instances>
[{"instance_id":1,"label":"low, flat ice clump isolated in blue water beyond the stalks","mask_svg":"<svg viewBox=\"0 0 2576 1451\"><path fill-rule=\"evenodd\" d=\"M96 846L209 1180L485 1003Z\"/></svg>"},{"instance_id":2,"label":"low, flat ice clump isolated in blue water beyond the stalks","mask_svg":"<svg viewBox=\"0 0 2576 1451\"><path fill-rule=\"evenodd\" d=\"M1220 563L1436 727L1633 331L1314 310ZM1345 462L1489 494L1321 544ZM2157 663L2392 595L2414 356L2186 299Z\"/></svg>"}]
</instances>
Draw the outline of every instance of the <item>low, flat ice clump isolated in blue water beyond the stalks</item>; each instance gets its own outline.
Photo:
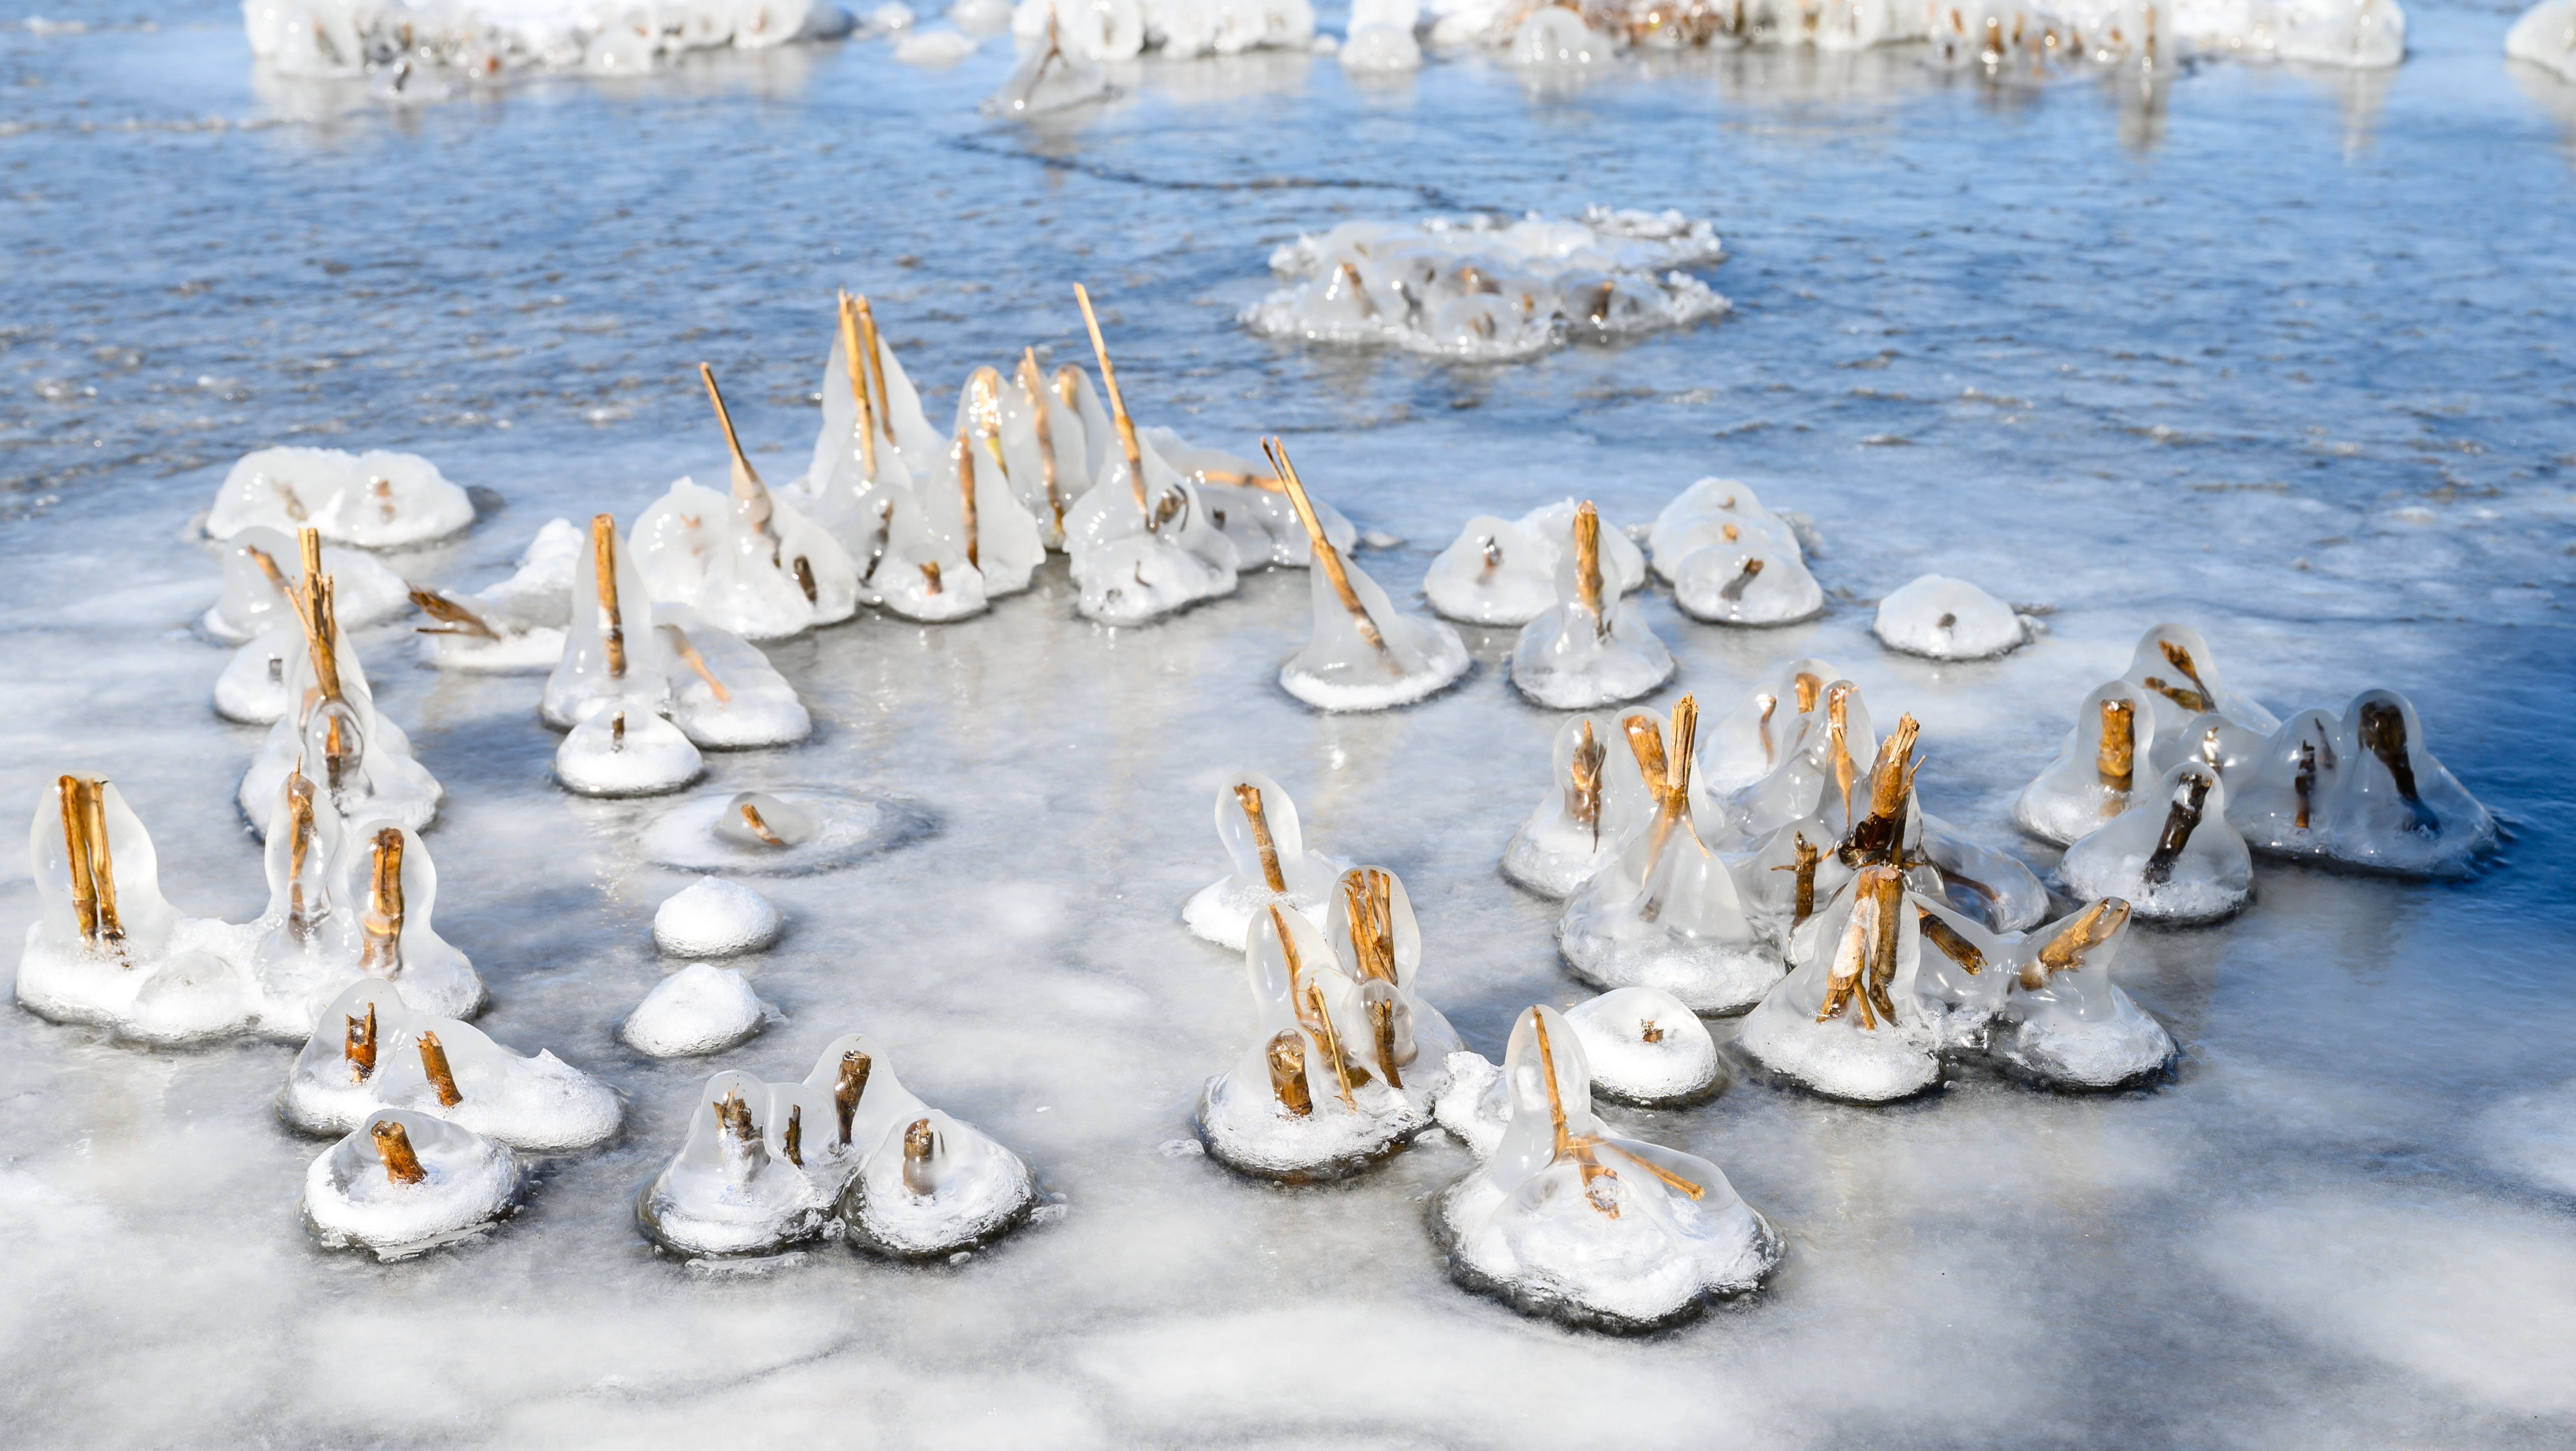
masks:
<instances>
[{"instance_id":1,"label":"low, flat ice clump isolated in blue water beyond the stalks","mask_svg":"<svg viewBox=\"0 0 2576 1451\"><path fill-rule=\"evenodd\" d=\"M1443 358L1533 358L1566 338L1687 327L1726 299L1680 268L1726 250L1680 211L1342 222L1270 253L1291 286L1244 309L1265 338L1396 345Z\"/></svg>"}]
</instances>

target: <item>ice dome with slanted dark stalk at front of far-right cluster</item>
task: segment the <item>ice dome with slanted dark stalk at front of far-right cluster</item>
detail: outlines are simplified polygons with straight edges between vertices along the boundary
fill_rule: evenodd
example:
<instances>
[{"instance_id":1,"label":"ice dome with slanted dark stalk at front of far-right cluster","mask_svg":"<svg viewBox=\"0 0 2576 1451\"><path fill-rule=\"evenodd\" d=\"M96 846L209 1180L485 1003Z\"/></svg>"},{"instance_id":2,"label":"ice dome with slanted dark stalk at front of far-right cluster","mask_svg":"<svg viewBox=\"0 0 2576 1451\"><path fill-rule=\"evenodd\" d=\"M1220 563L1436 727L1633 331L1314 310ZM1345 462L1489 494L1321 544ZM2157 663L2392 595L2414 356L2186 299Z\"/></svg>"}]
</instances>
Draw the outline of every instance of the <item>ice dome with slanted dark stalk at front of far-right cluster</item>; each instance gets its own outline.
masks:
<instances>
[{"instance_id":1,"label":"ice dome with slanted dark stalk at front of far-right cluster","mask_svg":"<svg viewBox=\"0 0 2576 1451\"><path fill-rule=\"evenodd\" d=\"M2228 918L2254 897L2254 858L2226 809L2218 771L2184 760L2066 848L2058 881L2079 897L2120 897L2159 923Z\"/></svg>"}]
</instances>

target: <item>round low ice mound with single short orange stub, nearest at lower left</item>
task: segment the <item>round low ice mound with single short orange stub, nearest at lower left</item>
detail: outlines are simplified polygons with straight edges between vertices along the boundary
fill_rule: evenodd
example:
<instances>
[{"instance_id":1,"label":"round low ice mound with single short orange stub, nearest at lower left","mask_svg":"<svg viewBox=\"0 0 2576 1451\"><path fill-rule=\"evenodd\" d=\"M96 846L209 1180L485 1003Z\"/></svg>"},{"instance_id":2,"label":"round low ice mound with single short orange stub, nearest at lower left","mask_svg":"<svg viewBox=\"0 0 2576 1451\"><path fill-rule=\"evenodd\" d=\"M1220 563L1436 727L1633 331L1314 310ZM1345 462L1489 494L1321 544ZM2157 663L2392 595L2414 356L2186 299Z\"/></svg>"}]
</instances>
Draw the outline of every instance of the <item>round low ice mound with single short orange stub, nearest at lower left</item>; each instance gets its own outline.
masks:
<instances>
[{"instance_id":1,"label":"round low ice mound with single short orange stub, nearest at lower left","mask_svg":"<svg viewBox=\"0 0 2576 1451\"><path fill-rule=\"evenodd\" d=\"M304 1224L330 1247L399 1260L489 1229L518 1201L518 1160L428 1113L379 1108L304 1173Z\"/></svg>"}]
</instances>

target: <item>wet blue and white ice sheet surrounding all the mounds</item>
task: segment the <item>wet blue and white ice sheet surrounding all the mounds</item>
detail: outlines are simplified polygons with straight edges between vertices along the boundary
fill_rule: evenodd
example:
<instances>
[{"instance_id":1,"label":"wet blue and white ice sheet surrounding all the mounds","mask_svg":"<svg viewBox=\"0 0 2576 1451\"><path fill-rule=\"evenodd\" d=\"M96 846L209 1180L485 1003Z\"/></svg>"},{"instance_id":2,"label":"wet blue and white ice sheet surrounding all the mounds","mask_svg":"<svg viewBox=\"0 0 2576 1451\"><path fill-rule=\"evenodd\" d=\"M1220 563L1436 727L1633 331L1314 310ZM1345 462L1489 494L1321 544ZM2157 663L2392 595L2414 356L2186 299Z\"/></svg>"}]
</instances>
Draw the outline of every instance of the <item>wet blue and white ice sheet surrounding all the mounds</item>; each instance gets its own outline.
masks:
<instances>
[{"instance_id":1,"label":"wet blue and white ice sheet surrounding all the mounds","mask_svg":"<svg viewBox=\"0 0 2576 1451\"><path fill-rule=\"evenodd\" d=\"M953 397L1023 343L1079 358L1077 276L1139 423L1236 451L1288 433L1324 497L1406 541L1355 554L1404 608L1476 513L1582 492L1643 521L1736 474L1811 515L1814 624L1723 631L1638 595L1680 660L1649 704L1723 711L1775 660L1834 660L1924 722L1924 807L2043 874L2056 848L2012 832L2012 796L2159 619L2200 624L2275 711L2406 691L2514 840L2470 884L2259 861L2228 925L2136 928L2117 979L2184 1052L2154 1093L1971 1080L1860 1111L1739 1080L1605 1106L1718 1162L1788 1240L1754 1299L1618 1343L1445 1278L1425 1216L1468 1155L1440 1134L1327 1191L1164 1152L1247 1033L1239 959L1175 907L1224 869L1226 771L1275 776L1316 848L1404 876L1422 992L1468 1046L1499 1059L1520 1008L1584 997L1556 905L1494 871L1556 719L1510 691L1512 631L1466 631L1476 673L1391 716L1275 688L1306 637L1298 572L1103 631L1059 562L976 621L775 644L814 740L711 753L698 791L886 791L938 830L762 876L796 930L737 961L786 1021L680 1062L616 1036L667 966L654 907L696 879L641 845L675 799L564 796L538 680L422 670L404 629L358 631L448 789L428 845L440 933L492 987L477 1026L623 1090L626 1131L541 1162L489 1240L376 1265L296 1224L317 1147L270 1106L291 1046L149 1054L5 1010L15 1436L1535 1446L1602 1405L1638 1446L2571 1436L2576 1201L2548 1165L2576 1072L2555 866L2576 101L2504 70L2509 15L2416 10L2388 77L2213 67L2161 116L1901 54L1685 57L1569 90L1273 54L1133 70L1113 108L1015 131L974 119L997 49L951 72L884 44L708 57L386 113L252 82L229 10L160 34L62 13L100 28L0 34L0 804L103 768L180 910L263 902L232 807L260 732L206 706L224 652L193 619L219 564L183 536L240 454L399 448L497 490L461 541L394 557L474 590L546 518L721 477L701 358L791 477L832 286L871 291ZM1736 312L1510 369L1234 325L1301 229L1592 201L1716 219ZM1888 655L1870 606L1924 572L2050 603L2050 634L1999 662ZM36 907L21 871L8 941ZM1025 1155L1061 1214L953 1268L652 1258L631 1196L708 1072L796 1077L850 1028ZM1293 1345L1373 1374L1316 1397L1283 1374Z\"/></svg>"}]
</instances>

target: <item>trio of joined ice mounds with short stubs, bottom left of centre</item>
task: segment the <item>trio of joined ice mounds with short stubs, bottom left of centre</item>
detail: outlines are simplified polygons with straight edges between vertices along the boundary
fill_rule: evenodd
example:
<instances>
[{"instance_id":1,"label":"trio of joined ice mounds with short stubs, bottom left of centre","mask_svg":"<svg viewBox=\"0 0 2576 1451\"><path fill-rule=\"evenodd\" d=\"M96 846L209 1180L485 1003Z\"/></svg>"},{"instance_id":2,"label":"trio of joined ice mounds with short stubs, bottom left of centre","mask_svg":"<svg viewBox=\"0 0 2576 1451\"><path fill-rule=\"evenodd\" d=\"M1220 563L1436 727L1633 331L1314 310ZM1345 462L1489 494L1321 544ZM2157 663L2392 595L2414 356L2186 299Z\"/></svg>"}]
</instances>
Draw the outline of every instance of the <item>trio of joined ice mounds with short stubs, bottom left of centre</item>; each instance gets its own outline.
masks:
<instances>
[{"instance_id":1,"label":"trio of joined ice mounds with short stubs, bottom left of centre","mask_svg":"<svg viewBox=\"0 0 2576 1451\"><path fill-rule=\"evenodd\" d=\"M848 1237L935 1258L1015 1227L1038 1198L1028 1165L904 1090L858 1033L804 1082L719 1072L688 1142L636 1196L636 1224L680 1255L768 1255Z\"/></svg>"}]
</instances>

